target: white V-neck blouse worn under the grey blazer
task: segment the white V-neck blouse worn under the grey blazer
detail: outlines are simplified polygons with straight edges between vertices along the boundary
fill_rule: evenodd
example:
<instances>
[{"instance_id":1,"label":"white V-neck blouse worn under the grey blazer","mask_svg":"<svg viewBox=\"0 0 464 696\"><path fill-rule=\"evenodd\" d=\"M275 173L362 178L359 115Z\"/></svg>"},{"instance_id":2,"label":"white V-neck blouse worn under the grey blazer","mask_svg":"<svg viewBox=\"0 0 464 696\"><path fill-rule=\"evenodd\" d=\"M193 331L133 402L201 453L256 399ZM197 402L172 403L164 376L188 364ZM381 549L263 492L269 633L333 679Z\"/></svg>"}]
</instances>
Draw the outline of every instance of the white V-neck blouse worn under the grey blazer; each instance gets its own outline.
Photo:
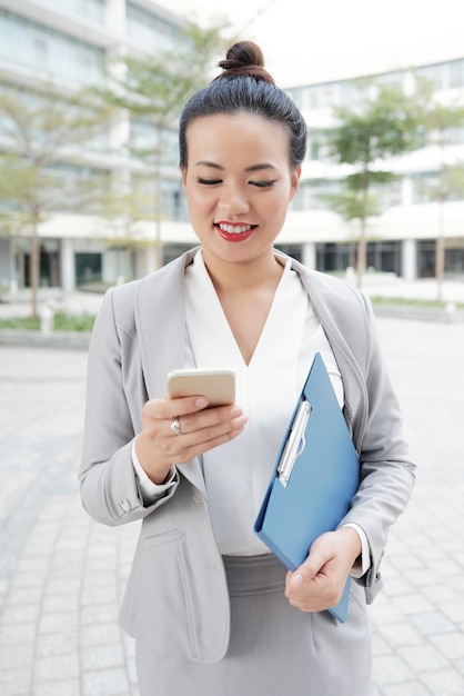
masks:
<instances>
[{"instance_id":1,"label":"white V-neck blouse worn under the grey blazer","mask_svg":"<svg viewBox=\"0 0 464 696\"><path fill-rule=\"evenodd\" d=\"M248 415L245 430L202 457L209 510L222 554L269 553L253 531L282 438L320 351L343 405L343 385L330 344L307 292L290 260L249 365L243 360L199 251L185 270L184 367L225 367L235 371L236 404Z\"/></svg>"}]
</instances>

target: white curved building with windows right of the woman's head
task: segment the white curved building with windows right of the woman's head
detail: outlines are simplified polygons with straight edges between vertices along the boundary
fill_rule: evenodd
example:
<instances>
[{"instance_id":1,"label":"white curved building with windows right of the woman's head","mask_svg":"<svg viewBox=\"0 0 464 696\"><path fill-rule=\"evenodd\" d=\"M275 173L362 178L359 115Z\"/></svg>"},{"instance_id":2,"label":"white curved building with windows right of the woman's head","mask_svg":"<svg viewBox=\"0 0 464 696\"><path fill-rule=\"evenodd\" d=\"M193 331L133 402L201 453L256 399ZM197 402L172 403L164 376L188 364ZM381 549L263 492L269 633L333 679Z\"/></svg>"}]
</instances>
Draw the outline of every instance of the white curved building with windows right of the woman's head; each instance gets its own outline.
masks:
<instances>
[{"instance_id":1,"label":"white curved building with windows right of the woman's head","mask_svg":"<svg viewBox=\"0 0 464 696\"><path fill-rule=\"evenodd\" d=\"M353 240L357 235L355 227L324 207L320 198L321 193L339 193L346 173L346 165L334 165L324 148L324 133L333 123L333 107L352 106L365 97L367 89L380 83L411 92L417 78L426 78L433 84L434 99L464 106L464 58L366 77L370 79L288 89L305 116L309 152L300 193L281 239L293 248L302 245L303 259L319 270L353 266ZM441 209L436 190L443 156L446 166L461 168L463 178L461 188L448 196ZM443 216L445 274L464 275L464 123L446 131L444 152L437 142L430 143L384 166L396 179L377 191L381 215L369 221L367 265L407 280L434 276L436 238Z\"/></svg>"}]
</instances>

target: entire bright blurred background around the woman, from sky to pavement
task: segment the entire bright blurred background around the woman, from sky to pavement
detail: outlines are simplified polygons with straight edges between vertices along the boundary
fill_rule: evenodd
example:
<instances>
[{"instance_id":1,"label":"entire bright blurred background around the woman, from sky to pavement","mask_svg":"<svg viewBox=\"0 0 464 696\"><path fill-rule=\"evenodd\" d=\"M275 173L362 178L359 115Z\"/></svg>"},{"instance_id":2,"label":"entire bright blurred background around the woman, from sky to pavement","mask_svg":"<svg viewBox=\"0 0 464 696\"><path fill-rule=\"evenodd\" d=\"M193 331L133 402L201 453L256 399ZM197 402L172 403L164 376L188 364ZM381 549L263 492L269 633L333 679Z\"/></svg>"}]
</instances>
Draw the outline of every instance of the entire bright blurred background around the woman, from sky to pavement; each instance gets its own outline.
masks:
<instances>
[{"instance_id":1,"label":"entire bright blurred background around the woman, from sky to pavement","mask_svg":"<svg viewBox=\"0 0 464 696\"><path fill-rule=\"evenodd\" d=\"M139 526L81 506L104 290L196 243L184 101L252 39L304 113L278 246L373 300L417 463L370 607L373 696L463 696L464 8L0 0L0 696L137 696Z\"/></svg>"}]
</instances>

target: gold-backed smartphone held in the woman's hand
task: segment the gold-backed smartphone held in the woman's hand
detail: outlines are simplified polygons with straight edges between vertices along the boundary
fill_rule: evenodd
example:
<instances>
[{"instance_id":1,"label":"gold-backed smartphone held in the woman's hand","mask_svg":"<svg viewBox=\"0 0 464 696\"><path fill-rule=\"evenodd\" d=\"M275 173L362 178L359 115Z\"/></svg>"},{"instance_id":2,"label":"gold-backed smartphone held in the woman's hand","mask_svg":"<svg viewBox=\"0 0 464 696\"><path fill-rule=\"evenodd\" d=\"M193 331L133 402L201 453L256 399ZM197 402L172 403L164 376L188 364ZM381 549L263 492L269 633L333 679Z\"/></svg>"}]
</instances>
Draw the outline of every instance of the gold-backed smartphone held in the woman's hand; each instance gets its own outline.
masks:
<instances>
[{"instance_id":1,"label":"gold-backed smartphone held in the woman's hand","mask_svg":"<svg viewBox=\"0 0 464 696\"><path fill-rule=\"evenodd\" d=\"M179 369L168 375L168 394L172 398L205 396L209 407L235 401L235 374L229 369Z\"/></svg>"}]
</instances>

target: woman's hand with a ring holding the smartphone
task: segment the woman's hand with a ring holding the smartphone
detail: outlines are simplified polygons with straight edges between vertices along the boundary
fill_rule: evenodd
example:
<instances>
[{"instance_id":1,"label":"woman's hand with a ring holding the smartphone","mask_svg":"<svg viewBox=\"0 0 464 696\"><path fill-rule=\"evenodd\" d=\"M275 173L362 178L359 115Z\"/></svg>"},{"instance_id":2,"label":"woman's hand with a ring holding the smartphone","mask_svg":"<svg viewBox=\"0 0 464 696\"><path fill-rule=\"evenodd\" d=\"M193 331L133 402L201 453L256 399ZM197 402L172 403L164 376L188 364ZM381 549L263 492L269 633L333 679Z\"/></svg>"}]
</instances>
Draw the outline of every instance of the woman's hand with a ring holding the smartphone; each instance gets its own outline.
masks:
<instances>
[{"instance_id":1,"label":"woman's hand with a ring holding the smartphone","mask_svg":"<svg viewBox=\"0 0 464 696\"><path fill-rule=\"evenodd\" d=\"M206 398L200 396L150 399L144 404L135 453L154 484L164 483L172 465L185 464L243 431L248 419L239 406L206 406ZM171 428L175 418L179 435Z\"/></svg>"}]
</instances>

